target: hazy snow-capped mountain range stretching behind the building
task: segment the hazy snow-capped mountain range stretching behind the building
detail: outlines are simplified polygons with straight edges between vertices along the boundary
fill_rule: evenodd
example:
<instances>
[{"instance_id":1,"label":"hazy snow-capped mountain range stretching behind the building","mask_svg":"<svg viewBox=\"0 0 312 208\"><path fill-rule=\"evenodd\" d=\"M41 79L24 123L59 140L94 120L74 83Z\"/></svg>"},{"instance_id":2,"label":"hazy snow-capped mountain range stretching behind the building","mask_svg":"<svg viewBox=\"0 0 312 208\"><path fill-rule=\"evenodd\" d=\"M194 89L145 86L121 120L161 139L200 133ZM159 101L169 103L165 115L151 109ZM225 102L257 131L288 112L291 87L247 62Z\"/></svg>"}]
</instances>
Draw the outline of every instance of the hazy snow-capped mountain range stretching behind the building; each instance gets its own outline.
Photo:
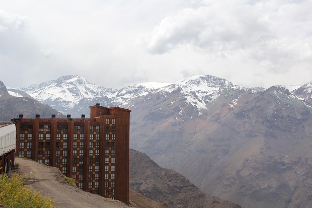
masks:
<instances>
[{"instance_id":1,"label":"hazy snow-capped mountain range stretching behind the building","mask_svg":"<svg viewBox=\"0 0 312 208\"><path fill-rule=\"evenodd\" d=\"M64 76L17 90L72 117L95 103L131 109L130 147L210 195L310 207L311 86L244 88L207 75L114 90Z\"/></svg>"}]
</instances>

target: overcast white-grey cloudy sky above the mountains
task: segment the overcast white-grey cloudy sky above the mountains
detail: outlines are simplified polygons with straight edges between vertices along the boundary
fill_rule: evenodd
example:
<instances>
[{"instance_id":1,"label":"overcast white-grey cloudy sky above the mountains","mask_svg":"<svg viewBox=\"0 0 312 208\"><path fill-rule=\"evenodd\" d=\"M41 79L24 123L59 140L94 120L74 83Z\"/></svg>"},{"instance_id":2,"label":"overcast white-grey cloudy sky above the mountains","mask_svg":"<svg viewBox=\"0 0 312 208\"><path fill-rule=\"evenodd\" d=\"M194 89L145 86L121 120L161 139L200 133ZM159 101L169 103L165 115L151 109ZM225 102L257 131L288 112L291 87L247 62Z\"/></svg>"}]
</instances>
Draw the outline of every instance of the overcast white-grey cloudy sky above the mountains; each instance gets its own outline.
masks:
<instances>
[{"instance_id":1,"label":"overcast white-grey cloudy sky above the mountains","mask_svg":"<svg viewBox=\"0 0 312 208\"><path fill-rule=\"evenodd\" d=\"M312 0L0 0L0 81L312 81Z\"/></svg>"}]
</instances>

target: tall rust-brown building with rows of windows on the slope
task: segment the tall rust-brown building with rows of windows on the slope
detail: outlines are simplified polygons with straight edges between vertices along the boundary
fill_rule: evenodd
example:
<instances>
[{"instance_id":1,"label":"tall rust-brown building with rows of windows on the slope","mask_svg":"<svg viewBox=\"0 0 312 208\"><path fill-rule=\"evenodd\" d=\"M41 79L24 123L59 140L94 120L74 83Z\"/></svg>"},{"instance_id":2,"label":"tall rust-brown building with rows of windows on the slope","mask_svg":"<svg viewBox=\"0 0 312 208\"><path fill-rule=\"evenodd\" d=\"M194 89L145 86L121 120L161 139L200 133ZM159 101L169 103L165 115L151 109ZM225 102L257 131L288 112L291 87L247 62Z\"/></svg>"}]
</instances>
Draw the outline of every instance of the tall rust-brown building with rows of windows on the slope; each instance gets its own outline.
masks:
<instances>
[{"instance_id":1,"label":"tall rust-brown building with rows of windows on the slope","mask_svg":"<svg viewBox=\"0 0 312 208\"><path fill-rule=\"evenodd\" d=\"M129 203L131 110L90 106L90 118L19 118L16 155L54 166L84 191Z\"/></svg>"}]
</instances>

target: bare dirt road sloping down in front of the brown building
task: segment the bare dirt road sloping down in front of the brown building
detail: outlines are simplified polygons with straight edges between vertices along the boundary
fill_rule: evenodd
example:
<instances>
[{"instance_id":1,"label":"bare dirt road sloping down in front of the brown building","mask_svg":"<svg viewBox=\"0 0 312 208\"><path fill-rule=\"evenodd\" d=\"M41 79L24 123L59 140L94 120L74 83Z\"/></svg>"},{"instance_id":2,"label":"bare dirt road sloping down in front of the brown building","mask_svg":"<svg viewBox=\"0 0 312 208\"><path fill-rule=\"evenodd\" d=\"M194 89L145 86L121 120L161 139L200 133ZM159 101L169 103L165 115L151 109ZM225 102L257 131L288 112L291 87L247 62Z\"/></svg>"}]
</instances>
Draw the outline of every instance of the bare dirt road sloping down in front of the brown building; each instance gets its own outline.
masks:
<instances>
[{"instance_id":1,"label":"bare dirt road sloping down in front of the brown building","mask_svg":"<svg viewBox=\"0 0 312 208\"><path fill-rule=\"evenodd\" d=\"M126 204L104 198L97 194L85 192L67 184L63 175L55 167L48 167L30 159L16 158L16 163L20 164L17 173L27 174L29 179L26 184L33 191L41 191L41 196L53 196L55 206L62 208L82 207L82 208L125 208Z\"/></svg>"}]
</instances>

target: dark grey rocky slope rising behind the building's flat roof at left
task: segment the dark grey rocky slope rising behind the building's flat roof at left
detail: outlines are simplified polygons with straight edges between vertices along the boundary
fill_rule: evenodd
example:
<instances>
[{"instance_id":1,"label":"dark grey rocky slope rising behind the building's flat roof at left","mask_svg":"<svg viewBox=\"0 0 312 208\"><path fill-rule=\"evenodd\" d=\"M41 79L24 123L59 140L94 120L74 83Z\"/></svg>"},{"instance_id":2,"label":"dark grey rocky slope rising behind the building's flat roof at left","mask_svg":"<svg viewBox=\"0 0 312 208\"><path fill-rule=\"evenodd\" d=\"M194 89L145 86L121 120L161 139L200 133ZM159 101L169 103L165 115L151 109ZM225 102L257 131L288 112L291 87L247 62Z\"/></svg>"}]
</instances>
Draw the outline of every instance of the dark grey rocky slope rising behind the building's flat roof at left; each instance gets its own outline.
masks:
<instances>
[{"instance_id":1,"label":"dark grey rocky slope rising behind the building's flat roof at left","mask_svg":"<svg viewBox=\"0 0 312 208\"><path fill-rule=\"evenodd\" d=\"M6 86L0 81L0 118L9 121L12 118L24 114L25 117L34 118L40 114L42 118L64 117L57 110L30 97L15 97L9 94Z\"/></svg>"}]
</instances>

